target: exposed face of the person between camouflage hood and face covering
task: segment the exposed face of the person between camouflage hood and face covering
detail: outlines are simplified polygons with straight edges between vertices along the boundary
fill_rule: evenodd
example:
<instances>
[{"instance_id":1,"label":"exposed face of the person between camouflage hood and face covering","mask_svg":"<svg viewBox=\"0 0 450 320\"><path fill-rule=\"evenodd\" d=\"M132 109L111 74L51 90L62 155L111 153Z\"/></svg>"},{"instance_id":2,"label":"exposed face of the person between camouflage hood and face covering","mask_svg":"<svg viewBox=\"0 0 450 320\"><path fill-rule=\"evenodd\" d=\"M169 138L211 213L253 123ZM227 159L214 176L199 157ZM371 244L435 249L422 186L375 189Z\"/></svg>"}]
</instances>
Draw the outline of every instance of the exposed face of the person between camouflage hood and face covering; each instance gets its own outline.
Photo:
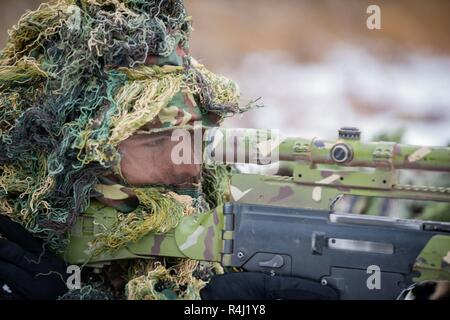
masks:
<instances>
[{"instance_id":1,"label":"exposed face of the person between camouflage hood and face covering","mask_svg":"<svg viewBox=\"0 0 450 320\"><path fill-rule=\"evenodd\" d=\"M123 177L137 186L190 182L200 174L201 166L174 164L172 150L177 143L171 141L171 132L137 134L124 140L119 145Z\"/></svg>"}]
</instances>

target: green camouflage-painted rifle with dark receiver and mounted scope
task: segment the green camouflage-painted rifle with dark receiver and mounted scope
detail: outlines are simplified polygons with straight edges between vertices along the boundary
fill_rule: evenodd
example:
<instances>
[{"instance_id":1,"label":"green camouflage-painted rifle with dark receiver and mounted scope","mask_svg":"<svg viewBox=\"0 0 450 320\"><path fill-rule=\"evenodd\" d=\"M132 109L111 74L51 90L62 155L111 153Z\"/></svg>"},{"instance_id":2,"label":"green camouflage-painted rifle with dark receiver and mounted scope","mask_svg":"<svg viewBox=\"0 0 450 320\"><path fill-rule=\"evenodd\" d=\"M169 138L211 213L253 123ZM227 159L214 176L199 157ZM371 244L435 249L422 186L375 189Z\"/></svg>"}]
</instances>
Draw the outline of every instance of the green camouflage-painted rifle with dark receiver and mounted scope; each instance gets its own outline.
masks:
<instances>
[{"instance_id":1,"label":"green camouflage-painted rifle with dark receiver and mounted scope","mask_svg":"<svg viewBox=\"0 0 450 320\"><path fill-rule=\"evenodd\" d=\"M333 210L343 195L450 202L450 188L398 181L399 170L450 172L450 148L363 143L354 128L341 129L337 141L216 128L205 133L204 147L207 161L279 160L278 168L234 174L233 199L223 208L95 257L87 255L88 243L117 212L93 203L72 231L66 259L92 267L149 256L217 261L330 284L343 299L395 299L414 282L450 280L449 223ZM367 287L369 267L379 268L381 289Z\"/></svg>"}]
</instances>

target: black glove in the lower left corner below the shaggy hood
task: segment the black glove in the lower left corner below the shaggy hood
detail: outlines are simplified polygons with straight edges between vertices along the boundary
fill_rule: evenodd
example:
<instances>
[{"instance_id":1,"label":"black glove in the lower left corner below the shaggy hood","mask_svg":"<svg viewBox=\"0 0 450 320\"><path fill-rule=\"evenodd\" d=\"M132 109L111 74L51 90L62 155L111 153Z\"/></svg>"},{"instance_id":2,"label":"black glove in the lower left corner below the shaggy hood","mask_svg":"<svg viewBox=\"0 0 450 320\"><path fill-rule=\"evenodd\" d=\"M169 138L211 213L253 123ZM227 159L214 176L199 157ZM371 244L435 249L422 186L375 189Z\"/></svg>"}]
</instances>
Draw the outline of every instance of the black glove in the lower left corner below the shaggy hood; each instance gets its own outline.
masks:
<instances>
[{"instance_id":1,"label":"black glove in the lower left corner below the shaggy hood","mask_svg":"<svg viewBox=\"0 0 450 320\"><path fill-rule=\"evenodd\" d=\"M0 299L50 300L67 292L63 260L4 215L0 235Z\"/></svg>"}]
</instances>

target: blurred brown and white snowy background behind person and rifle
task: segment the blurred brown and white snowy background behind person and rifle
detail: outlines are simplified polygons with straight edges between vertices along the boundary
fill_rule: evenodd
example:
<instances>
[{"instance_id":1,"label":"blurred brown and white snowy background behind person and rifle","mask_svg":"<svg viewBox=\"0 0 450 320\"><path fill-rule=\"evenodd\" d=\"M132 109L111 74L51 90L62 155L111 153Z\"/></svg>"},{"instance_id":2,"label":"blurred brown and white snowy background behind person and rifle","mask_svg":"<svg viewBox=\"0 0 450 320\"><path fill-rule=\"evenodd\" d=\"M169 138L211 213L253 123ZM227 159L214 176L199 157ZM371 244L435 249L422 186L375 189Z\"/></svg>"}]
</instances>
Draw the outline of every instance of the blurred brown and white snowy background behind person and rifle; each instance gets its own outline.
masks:
<instances>
[{"instance_id":1,"label":"blurred brown and white snowy background behind person and rifle","mask_svg":"<svg viewBox=\"0 0 450 320\"><path fill-rule=\"evenodd\" d=\"M2 0L7 30L41 0ZM404 129L407 143L450 143L450 1L186 0L193 56L264 108L226 125L333 139ZM381 8L381 30L366 27Z\"/></svg>"}]
</instances>

